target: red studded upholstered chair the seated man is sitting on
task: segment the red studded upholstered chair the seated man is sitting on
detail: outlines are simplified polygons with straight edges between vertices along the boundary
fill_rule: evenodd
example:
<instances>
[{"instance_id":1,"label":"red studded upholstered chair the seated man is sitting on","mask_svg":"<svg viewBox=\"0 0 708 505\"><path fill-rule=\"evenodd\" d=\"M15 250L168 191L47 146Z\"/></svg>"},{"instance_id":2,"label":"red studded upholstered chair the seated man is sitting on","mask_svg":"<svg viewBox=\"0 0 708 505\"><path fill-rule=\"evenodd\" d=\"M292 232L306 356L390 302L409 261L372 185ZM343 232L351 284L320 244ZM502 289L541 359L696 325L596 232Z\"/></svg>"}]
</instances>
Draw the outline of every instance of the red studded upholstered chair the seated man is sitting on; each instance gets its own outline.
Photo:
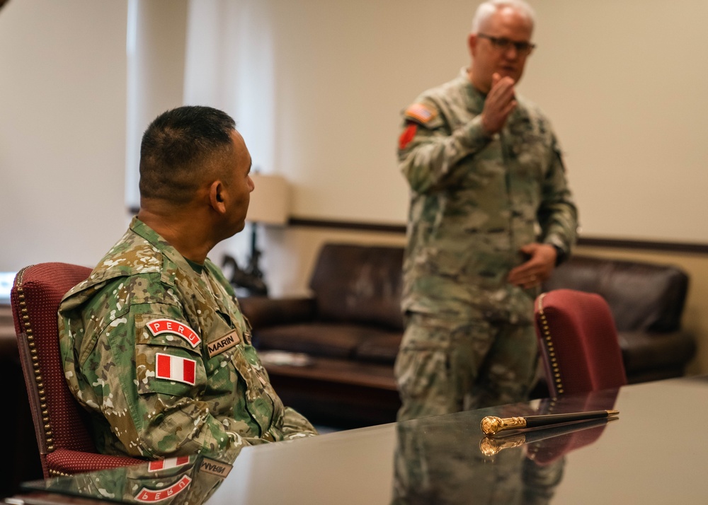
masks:
<instances>
[{"instance_id":1,"label":"red studded upholstered chair the seated man is sitting on","mask_svg":"<svg viewBox=\"0 0 708 505\"><path fill-rule=\"evenodd\" d=\"M64 294L89 274L86 267L40 263L18 272L11 291L21 364L47 478L144 463L96 451L87 414L64 381L57 310Z\"/></svg>"}]
</instances>

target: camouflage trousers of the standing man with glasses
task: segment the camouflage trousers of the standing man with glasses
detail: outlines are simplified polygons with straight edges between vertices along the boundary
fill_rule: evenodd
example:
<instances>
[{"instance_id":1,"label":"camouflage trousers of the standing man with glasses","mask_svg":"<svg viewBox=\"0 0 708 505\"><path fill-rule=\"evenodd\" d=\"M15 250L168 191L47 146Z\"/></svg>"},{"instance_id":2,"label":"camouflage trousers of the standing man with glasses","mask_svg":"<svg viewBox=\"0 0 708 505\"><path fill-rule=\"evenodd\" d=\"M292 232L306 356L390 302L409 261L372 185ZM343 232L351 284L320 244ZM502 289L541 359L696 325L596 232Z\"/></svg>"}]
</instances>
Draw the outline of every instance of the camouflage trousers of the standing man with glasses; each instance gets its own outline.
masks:
<instances>
[{"instance_id":1,"label":"camouflage trousers of the standing man with glasses","mask_svg":"<svg viewBox=\"0 0 708 505\"><path fill-rule=\"evenodd\" d=\"M530 324L412 313L395 364L398 420L526 400L537 359Z\"/></svg>"}]
</instances>

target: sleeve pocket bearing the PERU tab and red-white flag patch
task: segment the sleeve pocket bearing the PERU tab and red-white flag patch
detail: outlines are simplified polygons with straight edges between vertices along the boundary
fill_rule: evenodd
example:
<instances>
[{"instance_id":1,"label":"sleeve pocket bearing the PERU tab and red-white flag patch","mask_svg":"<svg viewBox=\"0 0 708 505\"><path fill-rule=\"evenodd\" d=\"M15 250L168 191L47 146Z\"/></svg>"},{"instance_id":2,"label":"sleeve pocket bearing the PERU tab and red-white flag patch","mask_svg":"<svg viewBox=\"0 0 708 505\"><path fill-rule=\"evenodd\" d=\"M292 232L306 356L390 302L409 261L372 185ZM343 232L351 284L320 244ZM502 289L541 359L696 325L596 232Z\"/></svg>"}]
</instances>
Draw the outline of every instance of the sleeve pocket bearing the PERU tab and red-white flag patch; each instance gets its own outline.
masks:
<instances>
[{"instance_id":1,"label":"sleeve pocket bearing the PERU tab and red-white flag patch","mask_svg":"<svg viewBox=\"0 0 708 505\"><path fill-rule=\"evenodd\" d=\"M206 383L200 344L186 323L159 314L136 315L138 393L195 397Z\"/></svg>"}]
</instances>

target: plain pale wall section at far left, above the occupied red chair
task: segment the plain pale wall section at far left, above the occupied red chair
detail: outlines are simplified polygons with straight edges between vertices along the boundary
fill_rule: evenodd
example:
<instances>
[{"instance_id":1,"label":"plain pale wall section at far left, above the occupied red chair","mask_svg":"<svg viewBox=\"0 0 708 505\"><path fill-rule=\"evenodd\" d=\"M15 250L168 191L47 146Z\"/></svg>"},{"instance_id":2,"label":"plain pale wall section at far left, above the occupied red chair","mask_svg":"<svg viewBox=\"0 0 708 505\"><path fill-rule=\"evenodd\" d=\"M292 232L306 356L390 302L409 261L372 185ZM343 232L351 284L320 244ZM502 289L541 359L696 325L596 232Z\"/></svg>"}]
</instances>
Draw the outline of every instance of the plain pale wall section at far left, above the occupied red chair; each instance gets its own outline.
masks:
<instances>
[{"instance_id":1,"label":"plain pale wall section at far left, above the occupied red chair","mask_svg":"<svg viewBox=\"0 0 708 505\"><path fill-rule=\"evenodd\" d=\"M125 1L0 10L0 271L94 265L124 229Z\"/></svg>"}]
</instances>

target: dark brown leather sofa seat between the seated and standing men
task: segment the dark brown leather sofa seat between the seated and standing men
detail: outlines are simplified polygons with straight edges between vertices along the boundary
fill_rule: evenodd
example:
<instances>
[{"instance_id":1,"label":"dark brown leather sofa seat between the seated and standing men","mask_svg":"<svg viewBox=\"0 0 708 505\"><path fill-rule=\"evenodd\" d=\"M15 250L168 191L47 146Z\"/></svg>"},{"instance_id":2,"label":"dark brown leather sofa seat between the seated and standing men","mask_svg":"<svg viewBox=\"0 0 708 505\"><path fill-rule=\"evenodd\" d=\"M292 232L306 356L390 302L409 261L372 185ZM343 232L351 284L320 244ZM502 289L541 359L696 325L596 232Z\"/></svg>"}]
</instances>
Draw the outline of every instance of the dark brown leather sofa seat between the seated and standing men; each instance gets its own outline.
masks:
<instances>
[{"instance_id":1,"label":"dark brown leather sofa seat between the seated and standing men","mask_svg":"<svg viewBox=\"0 0 708 505\"><path fill-rule=\"evenodd\" d=\"M280 325L253 330L253 344L258 349L278 349L304 352L312 356L354 359L358 357L358 349L362 343L387 339L391 334L387 330L367 325L341 323ZM375 356L374 351L370 354Z\"/></svg>"}]
</instances>

